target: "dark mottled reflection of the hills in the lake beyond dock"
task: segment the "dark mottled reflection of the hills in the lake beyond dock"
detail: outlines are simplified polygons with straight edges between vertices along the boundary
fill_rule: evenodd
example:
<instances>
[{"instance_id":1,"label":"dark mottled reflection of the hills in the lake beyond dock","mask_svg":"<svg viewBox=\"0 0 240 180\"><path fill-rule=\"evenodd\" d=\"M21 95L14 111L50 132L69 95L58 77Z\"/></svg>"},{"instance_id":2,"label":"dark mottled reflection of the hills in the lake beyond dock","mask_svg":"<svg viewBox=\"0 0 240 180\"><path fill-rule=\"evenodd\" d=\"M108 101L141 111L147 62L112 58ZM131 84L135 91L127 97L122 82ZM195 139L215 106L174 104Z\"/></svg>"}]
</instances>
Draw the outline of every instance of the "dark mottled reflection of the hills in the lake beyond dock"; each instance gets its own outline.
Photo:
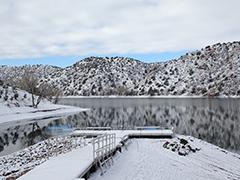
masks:
<instances>
[{"instance_id":1,"label":"dark mottled reflection of the hills in the lake beyond dock","mask_svg":"<svg viewBox=\"0 0 240 180\"><path fill-rule=\"evenodd\" d=\"M89 102L93 101L93 102ZM91 111L68 117L77 126L168 125L177 133L201 138L220 147L240 150L240 100L237 99L153 99L72 100L70 104L92 107ZM68 103L68 102L63 102Z\"/></svg>"}]
</instances>

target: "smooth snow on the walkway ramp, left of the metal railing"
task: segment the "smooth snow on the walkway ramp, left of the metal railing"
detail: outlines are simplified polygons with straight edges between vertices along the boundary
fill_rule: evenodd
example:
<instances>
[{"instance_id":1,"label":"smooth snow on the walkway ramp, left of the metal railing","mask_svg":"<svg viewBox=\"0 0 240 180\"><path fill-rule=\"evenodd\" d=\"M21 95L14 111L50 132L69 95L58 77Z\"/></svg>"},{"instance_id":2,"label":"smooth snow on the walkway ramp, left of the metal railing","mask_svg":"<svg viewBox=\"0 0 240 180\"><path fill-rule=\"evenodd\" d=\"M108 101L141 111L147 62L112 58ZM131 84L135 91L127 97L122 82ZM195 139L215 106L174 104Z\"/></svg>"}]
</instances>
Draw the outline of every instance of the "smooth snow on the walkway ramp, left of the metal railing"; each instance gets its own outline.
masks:
<instances>
[{"instance_id":1,"label":"smooth snow on the walkway ramp, left of the metal railing","mask_svg":"<svg viewBox=\"0 0 240 180\"><path fill-rule=\"evenodd\" d=\"M23 175L19 180L58 179L67 180L77 178L93 162L92 146L74 149L69 153L53 157Z\"/></svg>"}]
</instances>

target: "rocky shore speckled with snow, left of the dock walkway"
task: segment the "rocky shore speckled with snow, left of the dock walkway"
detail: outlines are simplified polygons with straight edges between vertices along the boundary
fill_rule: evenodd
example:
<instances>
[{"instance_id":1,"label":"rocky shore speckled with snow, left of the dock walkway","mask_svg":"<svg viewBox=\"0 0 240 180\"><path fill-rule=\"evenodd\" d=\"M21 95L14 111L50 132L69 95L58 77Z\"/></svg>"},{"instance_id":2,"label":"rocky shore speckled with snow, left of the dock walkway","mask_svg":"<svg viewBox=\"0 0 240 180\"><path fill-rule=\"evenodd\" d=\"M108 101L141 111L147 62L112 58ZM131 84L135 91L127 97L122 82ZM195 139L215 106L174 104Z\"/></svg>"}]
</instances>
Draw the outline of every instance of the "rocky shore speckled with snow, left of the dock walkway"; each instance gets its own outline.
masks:
<instances>
[{"instance_id":1,"label":"rocky shore speckled with snow, left of the dock walkway","mask_svg":"<svg viewBox=\"0 0 240 180\"><path fill-rule=\"evenodd\" d=\"M0 157L0 179L1 177L18 178L49 158L84 147L87 143L88 140L82 137L54 137L18 152L2 156Z\"/></svg>"}]
</instances>

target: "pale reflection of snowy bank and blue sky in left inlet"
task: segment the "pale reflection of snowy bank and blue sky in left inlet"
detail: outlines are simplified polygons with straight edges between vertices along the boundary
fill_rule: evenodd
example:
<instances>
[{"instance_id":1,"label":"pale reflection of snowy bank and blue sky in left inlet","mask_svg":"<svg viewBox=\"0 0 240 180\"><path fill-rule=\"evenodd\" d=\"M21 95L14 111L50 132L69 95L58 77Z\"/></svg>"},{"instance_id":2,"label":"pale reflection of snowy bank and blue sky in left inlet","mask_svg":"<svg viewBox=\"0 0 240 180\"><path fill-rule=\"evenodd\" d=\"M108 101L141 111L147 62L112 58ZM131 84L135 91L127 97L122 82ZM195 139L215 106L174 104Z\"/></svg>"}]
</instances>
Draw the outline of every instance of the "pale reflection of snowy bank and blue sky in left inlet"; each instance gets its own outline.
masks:
<instances>
[{"instance_id":1,"label":"pale reflection of snowy bank and blue sky in left inlet","mask_svg":"<svg viewBox=\"0 0 240 180\"><path fill-rule=\"evenodd\" d=\"M10 154L52 136L69 133L73 127L63 119L36 120L24 124L4 123L0 126L0 156Z\"/></svg>"}]
</instances>

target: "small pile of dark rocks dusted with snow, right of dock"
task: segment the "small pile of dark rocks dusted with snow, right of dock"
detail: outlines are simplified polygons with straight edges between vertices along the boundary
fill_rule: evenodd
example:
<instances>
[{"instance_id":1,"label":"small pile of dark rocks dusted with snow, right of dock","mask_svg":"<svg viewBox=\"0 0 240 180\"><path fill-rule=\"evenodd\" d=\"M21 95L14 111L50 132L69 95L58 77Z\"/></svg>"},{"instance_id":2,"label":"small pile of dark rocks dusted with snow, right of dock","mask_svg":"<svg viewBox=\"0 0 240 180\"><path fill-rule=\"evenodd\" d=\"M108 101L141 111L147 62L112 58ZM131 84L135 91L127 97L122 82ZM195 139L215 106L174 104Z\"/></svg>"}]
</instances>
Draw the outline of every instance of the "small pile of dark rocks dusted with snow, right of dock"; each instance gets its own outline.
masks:
<instances>
[{"instance_id":1,"label":"small pile of dark rocks dusted with snow, right of dock","mask_svg":"<svg viewBox=\"0 0 240 180\"><path fill-rule=\"evenodd\" d=\"M192 141L193 140L191 139L186 140L184 138L177 138L177 139L173 139L171 141L165 142L163 144L163 147L178 153L180 156L186 156L190 152L195 153L196 151L200 150L200 148L197 148L192 144Z\"/></svg>"}]
</instances>

